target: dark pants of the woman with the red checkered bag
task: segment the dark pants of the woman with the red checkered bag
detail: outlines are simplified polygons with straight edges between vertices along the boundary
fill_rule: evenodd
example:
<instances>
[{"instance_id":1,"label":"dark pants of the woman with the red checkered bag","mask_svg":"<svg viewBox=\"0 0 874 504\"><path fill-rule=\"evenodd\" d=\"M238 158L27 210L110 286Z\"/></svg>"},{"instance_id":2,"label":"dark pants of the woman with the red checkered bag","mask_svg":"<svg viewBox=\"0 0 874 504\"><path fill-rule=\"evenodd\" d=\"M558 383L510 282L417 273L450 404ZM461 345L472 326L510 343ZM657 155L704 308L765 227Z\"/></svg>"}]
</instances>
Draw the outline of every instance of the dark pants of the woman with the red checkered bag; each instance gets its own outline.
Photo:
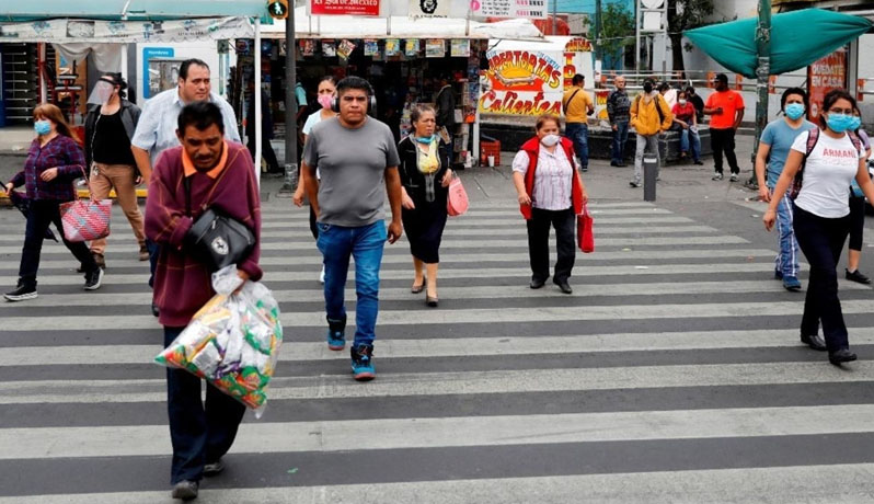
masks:
<instances>
[{"instance_id":1,"label":"dark pants of the woman with the red checkered bag","mask_svg":"<svg viewBox=\"0 0 874 504\"><path fill-rule=\"evenodd\" d=\"M33 199L27 213L27 227L24 231L24 247L21 250L21 265L19 278L21 282L36 286L36 272L39 270L39 255L43 252L43 240L46 229L54 224L58 229L64 244L70 249L77 260L82 263L85 273L97 268L97 263L91 255L91 250L84 242L73 243L64 236L64 226L60 222L60 204L62 202L50 199Z\"/></svg>"}]
</instances>

